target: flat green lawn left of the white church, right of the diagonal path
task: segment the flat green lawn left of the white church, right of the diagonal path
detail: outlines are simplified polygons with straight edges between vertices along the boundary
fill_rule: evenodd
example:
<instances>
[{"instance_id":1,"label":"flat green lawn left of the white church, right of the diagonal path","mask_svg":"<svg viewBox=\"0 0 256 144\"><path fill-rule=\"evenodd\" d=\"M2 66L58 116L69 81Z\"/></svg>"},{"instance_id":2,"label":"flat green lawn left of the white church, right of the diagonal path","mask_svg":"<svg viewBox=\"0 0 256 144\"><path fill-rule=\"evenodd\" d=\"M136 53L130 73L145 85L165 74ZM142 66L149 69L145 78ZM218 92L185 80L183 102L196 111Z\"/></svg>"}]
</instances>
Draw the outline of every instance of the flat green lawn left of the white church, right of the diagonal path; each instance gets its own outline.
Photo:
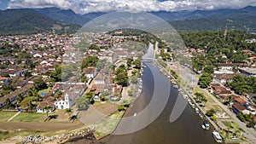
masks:
<instances>
[{"instance_id":1,"label":"flat green lawn left of the white church, right of the diagonal path","mask_svg":"<svg viewBox=\"0 0 256 144\"><path fill-rule=\"evenodd\" d=\"M44 122L46 113L21 112L13 122Z\"/></svg>"}]
</instances>

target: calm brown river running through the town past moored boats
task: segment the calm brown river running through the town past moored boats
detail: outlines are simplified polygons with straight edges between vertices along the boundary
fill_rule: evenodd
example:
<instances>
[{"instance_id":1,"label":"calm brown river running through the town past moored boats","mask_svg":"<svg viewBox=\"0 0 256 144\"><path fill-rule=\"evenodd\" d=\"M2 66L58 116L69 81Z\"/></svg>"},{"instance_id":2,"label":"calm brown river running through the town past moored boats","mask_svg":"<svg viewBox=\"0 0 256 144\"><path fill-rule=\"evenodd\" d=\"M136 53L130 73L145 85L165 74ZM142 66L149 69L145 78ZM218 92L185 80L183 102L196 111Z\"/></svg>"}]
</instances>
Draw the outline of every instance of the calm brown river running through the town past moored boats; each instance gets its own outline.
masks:
<instances>
[{"instance_id":1,"label":"calm brown river running through the town past moored boats","mask_svg":"<svg viewBox=\"0 0 256 144\"><path fill-rule=\"evenodd\" d=\"M145 63L143 72L143 93L132 103L133 107L128 108L125 117L133 116L135 112L140 113L148 106L154 93L154 83L162 84L158 88L158 98L162 99L166 87L171 88L166 107L160 116L143 130L128 135L109 135L100 141L78 140L70 143L76 144L213 144L216 143L212 137L212 130L203 130L201 119L195 110L187 105L182 115L176 121L170 122L170 114L177 100L178 92L170 84L153 63ZM155 79L154 79L155 78ZM164 86L165 85L165 86ZM162 89L161 89L162 88ZM162 107L162 106L159 106ZM147 113L148 116L150 112ZM120 122L122 124L122 121ZM131 125L136 125L131 123Z\"/></svg>"}]
</instances>

